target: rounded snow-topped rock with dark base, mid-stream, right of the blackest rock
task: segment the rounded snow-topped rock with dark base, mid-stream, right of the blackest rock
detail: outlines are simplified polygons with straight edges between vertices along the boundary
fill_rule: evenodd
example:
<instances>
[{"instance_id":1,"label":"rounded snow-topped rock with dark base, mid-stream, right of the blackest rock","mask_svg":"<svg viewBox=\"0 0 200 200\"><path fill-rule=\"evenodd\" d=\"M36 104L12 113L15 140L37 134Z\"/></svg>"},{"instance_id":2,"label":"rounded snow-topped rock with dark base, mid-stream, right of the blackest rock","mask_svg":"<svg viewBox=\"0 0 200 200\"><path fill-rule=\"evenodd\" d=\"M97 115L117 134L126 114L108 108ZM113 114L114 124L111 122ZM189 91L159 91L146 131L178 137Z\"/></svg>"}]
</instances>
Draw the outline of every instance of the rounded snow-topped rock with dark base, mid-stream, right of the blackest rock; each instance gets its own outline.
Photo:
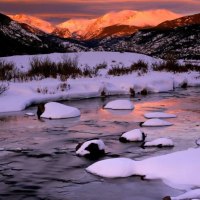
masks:
<instances>
[{"instance_id":1,"label":"rounded snow-topped rock with dark base, mid-stream, right of the blackest rock","mask_svg":"<svg viewBox=\"0 0 200 200\"><path fill-rule=\"evenodd\" d=\"M140 129L134 129L123 133L119 141L120 142L143 142L146 135Z\"/></svg>"}]
</instances>

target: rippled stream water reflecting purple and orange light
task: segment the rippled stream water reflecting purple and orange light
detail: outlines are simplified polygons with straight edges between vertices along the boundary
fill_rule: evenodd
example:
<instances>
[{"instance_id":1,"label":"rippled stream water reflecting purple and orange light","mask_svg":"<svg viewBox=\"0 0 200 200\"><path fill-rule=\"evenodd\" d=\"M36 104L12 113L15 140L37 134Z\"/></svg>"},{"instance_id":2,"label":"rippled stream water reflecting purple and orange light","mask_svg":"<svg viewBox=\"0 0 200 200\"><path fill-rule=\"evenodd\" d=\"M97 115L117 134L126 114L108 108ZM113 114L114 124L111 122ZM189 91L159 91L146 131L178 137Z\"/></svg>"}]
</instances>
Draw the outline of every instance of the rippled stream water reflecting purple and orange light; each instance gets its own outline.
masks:
<instances>
[{"instance_id":1,"label":"rippled stream water reflecting purple and orange light","mask_svg":"<svg viewBox=\"0 0 200 200\"><path fill-rule=\"evenodd\" d=\"M90 161L75 155L79 142L104 140L110 157L144 159L196 147L200 138L200 88L176 90L131 98L133 111L108 111L102 106L114 99L95 98L62 102L81 110L80 118L38 121L36 107L0 114L0 200L159 200L181 191L160 180L140 177L103 179L88 174ZM149 111L166 111L178 117L168 119L170 127L142 128L147 140L169 137L174 148L140 148L140 143L118 141L122 132L139 128ZM104 159L103 158L103 159Z\"/></svg>"}]
</instances>

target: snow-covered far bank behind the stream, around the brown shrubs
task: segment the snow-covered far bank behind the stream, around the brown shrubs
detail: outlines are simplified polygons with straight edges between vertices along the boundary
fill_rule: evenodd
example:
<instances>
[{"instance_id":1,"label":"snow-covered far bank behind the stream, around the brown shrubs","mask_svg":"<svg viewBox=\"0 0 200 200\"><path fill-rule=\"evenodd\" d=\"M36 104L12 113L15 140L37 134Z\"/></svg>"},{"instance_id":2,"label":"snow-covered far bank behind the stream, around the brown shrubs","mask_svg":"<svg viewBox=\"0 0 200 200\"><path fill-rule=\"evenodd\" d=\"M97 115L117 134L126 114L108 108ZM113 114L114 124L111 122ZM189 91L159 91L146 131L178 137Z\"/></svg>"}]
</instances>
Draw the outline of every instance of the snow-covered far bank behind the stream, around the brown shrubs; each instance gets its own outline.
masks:
<instances>
[{"instance_id":1,"label":"snow-covered far bank behind the stream, around the brown shrubs","mask_svg":"<svg viewBox=\"0 0 200 200\"><path fill-rule=\"evenodd\" d=\"M59 78L46 78L27 82L10 82L9 90L0 96L0 111L19 111L25 109L32 103L39 103L51 100L64 100L74 98L100 97L104 91L106 95L130 94L130 88L135 92L146 89L148 92L167 92L183 83L188 86L200 86L199 74L190 73L167 73L155 72L151 64L160 61L149 56L134 53L116 52L80 52L60 54L53 53L40 55L40 58L47 57L55 62L63 58L77 58L78 67L95 68L98 65L105 67L98 71L97 76L92 78L69 78L67 82ZM30 60L34 56L12 56L2 58L5 61L12 61L22 70L30 68ZM129 67L131 64L143 60L148 64L148 73L140 74L138 71L123 76L108 75L112 67ZM63 83L68 87L61 89ZM44 92L42 92L44 91Z\"/></svg>"}]
</instances>

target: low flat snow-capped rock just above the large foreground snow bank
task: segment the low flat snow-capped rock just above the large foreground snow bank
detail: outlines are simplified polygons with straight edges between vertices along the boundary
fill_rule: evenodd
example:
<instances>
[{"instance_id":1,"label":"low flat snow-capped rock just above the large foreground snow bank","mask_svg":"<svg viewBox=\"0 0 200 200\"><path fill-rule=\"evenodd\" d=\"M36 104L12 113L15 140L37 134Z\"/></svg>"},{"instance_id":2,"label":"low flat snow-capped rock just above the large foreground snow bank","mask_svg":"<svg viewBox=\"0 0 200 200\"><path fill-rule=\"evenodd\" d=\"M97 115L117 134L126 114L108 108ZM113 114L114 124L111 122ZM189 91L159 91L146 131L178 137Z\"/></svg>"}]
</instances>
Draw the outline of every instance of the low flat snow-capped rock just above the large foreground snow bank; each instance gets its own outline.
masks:
<instances>
[{"instance_id":1,"label":"low flat snow-capped rock just above the large foreground snow bank","mask_svg":"<svg viewBox=\"0 0 200 200\"><path fill-rule=\"evenodd\" d=\"M150 142L144 142L141 147L173 147L174 143L169 138L158 138Z\"/></svg>"}]
</instances>

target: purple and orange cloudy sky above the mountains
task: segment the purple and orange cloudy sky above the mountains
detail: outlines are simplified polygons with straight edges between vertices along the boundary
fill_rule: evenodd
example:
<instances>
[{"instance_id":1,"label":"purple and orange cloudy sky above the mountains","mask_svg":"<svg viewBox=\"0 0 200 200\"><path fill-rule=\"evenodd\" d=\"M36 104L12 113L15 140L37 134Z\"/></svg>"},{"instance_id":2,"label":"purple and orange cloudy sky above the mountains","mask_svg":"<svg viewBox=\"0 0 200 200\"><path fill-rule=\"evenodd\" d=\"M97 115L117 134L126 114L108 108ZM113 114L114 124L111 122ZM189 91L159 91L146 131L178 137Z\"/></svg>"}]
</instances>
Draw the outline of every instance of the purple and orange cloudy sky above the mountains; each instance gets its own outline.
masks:
<instances>
[{"instance_id":1,"label":"purple and orange cloudy sky above the mountains","mask_svg":"<svg viewBox=\"0 0 200 200\"><path fill-rule=\"evenodd\" d=\"M0 0L4 14L28 14L52 23L96 18L120 10L167 9L182 15L200 12L200 0Z\"/></svg>"}]
</instances>

